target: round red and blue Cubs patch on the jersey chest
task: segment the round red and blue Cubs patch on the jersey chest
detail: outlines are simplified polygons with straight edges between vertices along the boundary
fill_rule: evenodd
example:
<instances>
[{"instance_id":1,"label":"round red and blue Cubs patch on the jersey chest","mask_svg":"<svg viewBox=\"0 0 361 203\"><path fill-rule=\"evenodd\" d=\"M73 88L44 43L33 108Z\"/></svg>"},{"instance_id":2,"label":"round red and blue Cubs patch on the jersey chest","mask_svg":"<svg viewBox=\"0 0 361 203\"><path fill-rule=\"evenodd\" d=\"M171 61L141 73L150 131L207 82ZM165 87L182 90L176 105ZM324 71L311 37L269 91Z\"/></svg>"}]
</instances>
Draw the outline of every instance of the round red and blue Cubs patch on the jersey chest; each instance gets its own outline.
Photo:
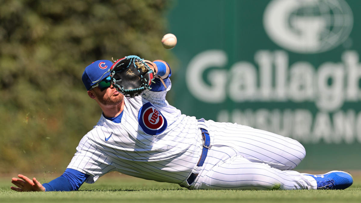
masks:
<instances>
[{"instance_id":1,"label":"round red and blue Cubs patch on the jersey chest","mask_svg":"<svg viewBox=\"0 0 361 203\"><path fill-rule=\"evenodd\" d=\"M149 135L161 134L167 128L167 120L150 102L140 108L138 122L142 130Z\"/></svg>"}]
</instances>

